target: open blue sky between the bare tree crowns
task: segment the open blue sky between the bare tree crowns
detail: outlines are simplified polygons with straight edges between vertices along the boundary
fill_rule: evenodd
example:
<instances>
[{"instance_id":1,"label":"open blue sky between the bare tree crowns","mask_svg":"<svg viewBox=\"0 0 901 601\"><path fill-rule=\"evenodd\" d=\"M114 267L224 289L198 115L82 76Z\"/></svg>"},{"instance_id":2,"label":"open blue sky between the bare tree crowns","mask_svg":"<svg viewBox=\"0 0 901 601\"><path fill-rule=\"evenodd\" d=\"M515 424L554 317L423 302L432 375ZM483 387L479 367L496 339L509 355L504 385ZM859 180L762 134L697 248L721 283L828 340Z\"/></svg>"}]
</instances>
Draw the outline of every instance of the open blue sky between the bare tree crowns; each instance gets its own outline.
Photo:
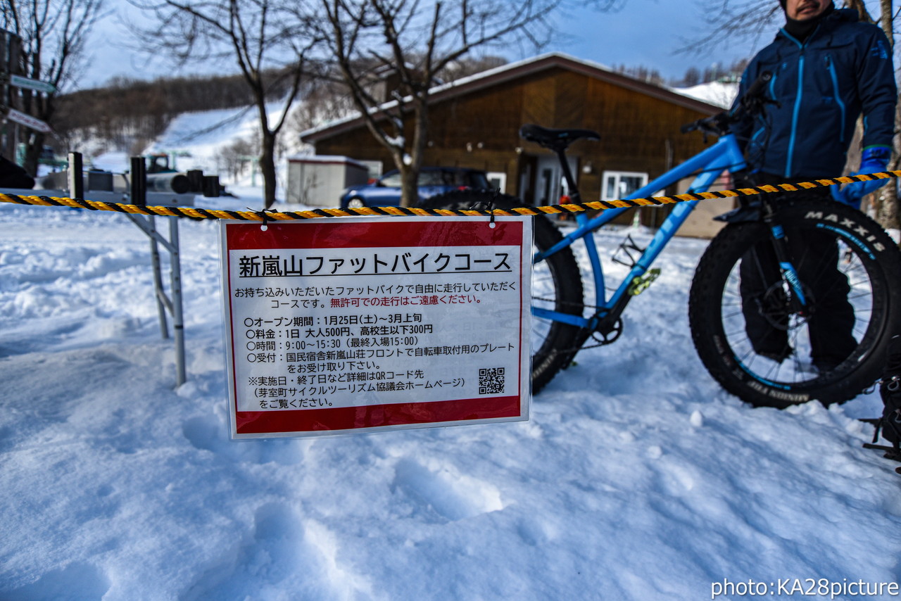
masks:
<instances>
[{"instance_id":1,"label":"open blue sky between the bare tree crowns","mask_svg":"<svg viewBox=\"0 0 901 601\"><path fill-rule=\"evenodd\" d=\"M583 9L560 14L558 40L546 50L566 52L578 59L593 60L610 67L641 65L656 68L663 77L670 78L683 76L690 67L704 69L714 63L728 65L733 59L750 56L775 33L773 29L762 40L733 41L705 54L677 52L710 31L703 18L703 2L705 0L622 0L622 7L614 12ZM109 6L114 12L134 10L125 0L109 0ZM174 73L164 62L148 62L140 53L129 50L129 45L127 29L119 19L108 17L97 27L90 46L90 67L80 78L79 87L100 86L110 77L122 75L152 78L210 72L186 68L184 72ZM514 52L507 58L525 57ZM236 72L236 68L229 65L228 72Z\"/></svg>"}]
</instances>

